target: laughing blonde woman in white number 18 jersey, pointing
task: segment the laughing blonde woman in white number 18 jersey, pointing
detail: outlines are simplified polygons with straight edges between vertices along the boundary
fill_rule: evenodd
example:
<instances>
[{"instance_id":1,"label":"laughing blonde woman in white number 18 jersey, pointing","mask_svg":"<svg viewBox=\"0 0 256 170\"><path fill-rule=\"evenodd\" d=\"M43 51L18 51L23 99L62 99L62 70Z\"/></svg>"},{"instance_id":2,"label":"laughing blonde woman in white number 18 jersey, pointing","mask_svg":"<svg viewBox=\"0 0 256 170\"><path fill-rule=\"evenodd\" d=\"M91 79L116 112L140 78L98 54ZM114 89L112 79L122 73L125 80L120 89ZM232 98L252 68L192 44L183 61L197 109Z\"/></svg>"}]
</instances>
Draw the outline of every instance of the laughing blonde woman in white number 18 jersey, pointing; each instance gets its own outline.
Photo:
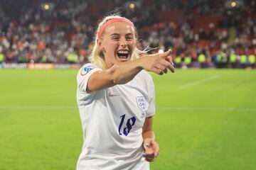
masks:
<instances>
[{"instance_id":1,"label":"laughing blonde woman in white number 18 jersey, pointing","mask_svg":"<svg viewBox=\"0 0 256 170\"><path fill-rule=\"evenodd\" d=\"M149 169L159 154L152 130L154 84L145 71L174 72L171 50L144 55L127 18L107 16L99 24L92 64L78 72L83 146L78 170Z\"/></svg>"}]
</instances>

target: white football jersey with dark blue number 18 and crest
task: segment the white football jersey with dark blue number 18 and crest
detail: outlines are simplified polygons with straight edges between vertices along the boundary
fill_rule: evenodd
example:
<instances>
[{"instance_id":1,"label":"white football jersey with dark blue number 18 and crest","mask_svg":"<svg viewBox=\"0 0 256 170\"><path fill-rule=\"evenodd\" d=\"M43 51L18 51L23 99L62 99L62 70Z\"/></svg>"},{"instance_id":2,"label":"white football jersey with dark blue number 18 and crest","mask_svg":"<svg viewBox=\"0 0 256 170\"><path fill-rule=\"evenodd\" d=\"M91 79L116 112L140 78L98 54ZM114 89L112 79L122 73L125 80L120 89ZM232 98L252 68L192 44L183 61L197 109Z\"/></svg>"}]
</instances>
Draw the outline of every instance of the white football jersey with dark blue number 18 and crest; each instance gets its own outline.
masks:
<instances>
[{"instance_id":1,"label":"white football jersey with dark blue number 18 and crest","mask_svg":"<svg viewBox=\"0 0 256 170\"><path fill-rule=\"evenodd\" d=\"M84 140L77 170L149 170L142 157L142 126L155 113L151 76L142 70L127 84L87 93L90 75L99 70L85 64L77 76Z\"/></svg>"}]
</instances>

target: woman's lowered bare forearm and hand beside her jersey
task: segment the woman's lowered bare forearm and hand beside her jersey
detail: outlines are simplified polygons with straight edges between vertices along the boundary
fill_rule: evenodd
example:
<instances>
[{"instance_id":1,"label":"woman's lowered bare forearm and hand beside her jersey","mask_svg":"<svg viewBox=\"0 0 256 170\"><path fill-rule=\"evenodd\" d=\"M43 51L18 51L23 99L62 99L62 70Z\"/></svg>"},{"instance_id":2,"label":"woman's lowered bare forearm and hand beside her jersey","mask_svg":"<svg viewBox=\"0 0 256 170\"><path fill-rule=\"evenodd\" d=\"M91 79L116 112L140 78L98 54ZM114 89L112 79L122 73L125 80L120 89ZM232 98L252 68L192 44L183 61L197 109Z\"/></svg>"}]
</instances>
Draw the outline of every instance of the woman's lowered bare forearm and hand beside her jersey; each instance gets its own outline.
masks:
<instances>
[{"instance_id":1,"label":"woman's lowered bare forearm and hand beside her jersey","mask_svg":"<svg viewBox=\"0 0 256 170\"><path fill-rule=\"evenodd\" d=\"M145 149L145 159L147 162L154 162L159 154L159 145L155 141L152 127L153 116L146 118L142 127L143 147Z\"/></svg>"}]
</instances>

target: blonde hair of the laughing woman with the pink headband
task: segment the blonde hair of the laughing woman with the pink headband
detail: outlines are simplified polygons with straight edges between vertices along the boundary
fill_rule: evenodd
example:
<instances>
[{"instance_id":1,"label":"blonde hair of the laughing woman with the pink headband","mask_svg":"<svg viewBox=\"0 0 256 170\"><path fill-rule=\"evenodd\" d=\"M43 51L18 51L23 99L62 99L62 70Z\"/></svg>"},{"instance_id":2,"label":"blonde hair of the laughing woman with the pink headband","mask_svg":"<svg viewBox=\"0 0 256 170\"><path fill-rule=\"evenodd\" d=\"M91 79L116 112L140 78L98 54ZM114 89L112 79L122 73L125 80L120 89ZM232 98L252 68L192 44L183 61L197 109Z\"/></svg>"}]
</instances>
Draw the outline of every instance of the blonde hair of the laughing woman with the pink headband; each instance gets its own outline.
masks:
<instances>
[{"instance_id":1,"label":"blonde hair of the laughing woman with the pink headband","mask_svg":"<svg viewBox=\"0 0 256 170\"><path fill-rule=\"evenodd\" d=\"M102 69L107 69L107 64L105 63L105 58L104 58L103 52L99 49L99 46L97 44L98 33L99 33L101 26L113 18L124 18L124 17L119 16L118 14L114 14L112 16L106 16L105 18L102 19L102 21L97 26L97 31L95 33L95 40L93 42L94 45L92 48L92 53L90 54L90 58L89 58L90 62L92 62L92 64L95 64L95 65L97 65L97 67L100 67ZM136 32L136 29L135 29L135 32ZM104 32L102 33L101 38L103 37L103 35L104 35ZM142 53L144 53L144 51L139 50L137 47L135 47L134 52L132 53L131 60L135 60L135 59L139 58L139 55Z\"/></svg>"}]
</instances>

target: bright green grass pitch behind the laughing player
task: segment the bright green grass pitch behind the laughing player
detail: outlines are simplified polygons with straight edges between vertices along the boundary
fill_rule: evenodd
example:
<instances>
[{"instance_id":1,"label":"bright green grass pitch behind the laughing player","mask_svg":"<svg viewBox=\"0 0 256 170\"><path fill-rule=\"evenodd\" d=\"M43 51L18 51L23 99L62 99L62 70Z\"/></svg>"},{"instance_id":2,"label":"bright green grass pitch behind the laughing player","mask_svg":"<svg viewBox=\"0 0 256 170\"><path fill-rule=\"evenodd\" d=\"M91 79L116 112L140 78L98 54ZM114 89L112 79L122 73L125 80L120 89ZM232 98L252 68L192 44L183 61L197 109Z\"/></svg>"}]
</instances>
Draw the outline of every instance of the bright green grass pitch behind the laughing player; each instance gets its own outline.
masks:
<instances>
[{"instance_id":1,"label":"bright green grass pitch behind the laughing player","mask_svg":"<svg viewBox=\"0 0 256 170\"><path fill-rule=\"evenodd\" d=\"M76 69L0 69L0 169L75 169ZM151 170L256 169L256 70L152 74L160 154Z\"/></svg>"}]
</instances>

